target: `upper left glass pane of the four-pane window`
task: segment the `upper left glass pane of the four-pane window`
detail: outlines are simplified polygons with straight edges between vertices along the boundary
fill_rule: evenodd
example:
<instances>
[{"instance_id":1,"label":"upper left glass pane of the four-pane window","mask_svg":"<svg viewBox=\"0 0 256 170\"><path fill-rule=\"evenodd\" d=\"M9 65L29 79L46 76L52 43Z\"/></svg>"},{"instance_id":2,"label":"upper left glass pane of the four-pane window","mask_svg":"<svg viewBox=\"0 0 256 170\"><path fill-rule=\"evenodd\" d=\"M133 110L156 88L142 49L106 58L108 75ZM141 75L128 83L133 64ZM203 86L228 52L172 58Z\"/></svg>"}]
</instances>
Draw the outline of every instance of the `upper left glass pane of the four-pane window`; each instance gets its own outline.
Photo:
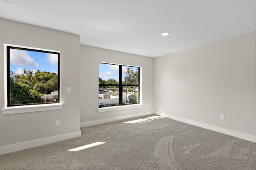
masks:
<instances>
[{"instance_id":1,"label":"upper left glass pane of the four-pane window","mask_svg":"<svg viewBox=\"0 0 256 170\"><path fill-rule=\"evenodd\" d=\"M99 63L99 84L118 84L119 65Z\"/></svg>"}]
</instances>

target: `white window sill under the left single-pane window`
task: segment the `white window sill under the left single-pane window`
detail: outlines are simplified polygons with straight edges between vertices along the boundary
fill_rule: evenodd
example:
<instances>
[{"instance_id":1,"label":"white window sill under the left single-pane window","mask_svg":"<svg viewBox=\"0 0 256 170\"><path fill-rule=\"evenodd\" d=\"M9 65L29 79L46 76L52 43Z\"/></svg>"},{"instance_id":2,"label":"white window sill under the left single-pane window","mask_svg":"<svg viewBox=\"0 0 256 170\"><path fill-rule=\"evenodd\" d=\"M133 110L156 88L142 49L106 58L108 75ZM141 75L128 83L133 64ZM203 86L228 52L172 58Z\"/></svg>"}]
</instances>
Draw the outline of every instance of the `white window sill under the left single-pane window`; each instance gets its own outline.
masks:
<instances>
[{"instance_id":1,"label":"white window sill under the left single-pane window","mask_svg":"<svg viewBox=\"0 0 256 170\"><path fill-rule=\"evenodd\" d=\"M62 109L62 104L44 104L44 105L27 105L27 106L13 106L2 109L3 115L16 114L16 113L28 113L38 111L51 111Z\"/></svg>"}]
</instances>

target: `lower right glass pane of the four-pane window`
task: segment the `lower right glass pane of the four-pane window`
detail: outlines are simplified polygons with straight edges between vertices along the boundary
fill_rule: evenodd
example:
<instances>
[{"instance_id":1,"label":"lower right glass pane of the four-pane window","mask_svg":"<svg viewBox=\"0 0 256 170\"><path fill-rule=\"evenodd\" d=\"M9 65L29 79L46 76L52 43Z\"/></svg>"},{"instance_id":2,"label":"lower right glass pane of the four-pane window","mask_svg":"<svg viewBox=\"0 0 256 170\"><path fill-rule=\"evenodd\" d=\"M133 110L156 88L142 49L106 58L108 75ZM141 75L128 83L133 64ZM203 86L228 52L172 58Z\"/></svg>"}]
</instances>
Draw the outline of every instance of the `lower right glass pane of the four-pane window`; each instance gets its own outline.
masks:
<instances>
[{"instance_id":1,"label":"lower right glass pane of the four-pane window","mask_svg":"<svg viewBox=\"0 0 256 170\"><path fill-rule=\"evenodd\" d=\"M123 104L138 103L138 86L124 86L123 87Z\"/></svg>"}]
</instances>

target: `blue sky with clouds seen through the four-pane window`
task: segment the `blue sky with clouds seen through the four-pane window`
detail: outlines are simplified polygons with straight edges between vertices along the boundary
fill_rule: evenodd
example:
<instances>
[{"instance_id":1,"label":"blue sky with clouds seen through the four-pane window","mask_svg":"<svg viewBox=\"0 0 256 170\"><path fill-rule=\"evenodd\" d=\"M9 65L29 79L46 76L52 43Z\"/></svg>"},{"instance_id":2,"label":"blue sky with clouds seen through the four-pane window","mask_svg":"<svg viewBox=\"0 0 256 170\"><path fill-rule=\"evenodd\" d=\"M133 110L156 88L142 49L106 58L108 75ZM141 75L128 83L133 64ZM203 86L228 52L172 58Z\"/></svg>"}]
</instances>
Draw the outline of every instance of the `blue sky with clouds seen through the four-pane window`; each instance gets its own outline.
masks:
<instances>
[{"instance_id":1,"label":"blue sky with clouds seen through the four-pane window","mask_svg":"<svg viewBox=\"0 0 256 170\"><path fill-rule=\"evenodd\" d=\"M122 81L124 81L124 77L126 76L126 69L134 69L136 71L136 67L130 66L122 66ZM114 64L105 64L99 63L99 77L103 80L115 79L118 82L118 74L119 74L119 65Z\"/></svg>"}]
</instances>

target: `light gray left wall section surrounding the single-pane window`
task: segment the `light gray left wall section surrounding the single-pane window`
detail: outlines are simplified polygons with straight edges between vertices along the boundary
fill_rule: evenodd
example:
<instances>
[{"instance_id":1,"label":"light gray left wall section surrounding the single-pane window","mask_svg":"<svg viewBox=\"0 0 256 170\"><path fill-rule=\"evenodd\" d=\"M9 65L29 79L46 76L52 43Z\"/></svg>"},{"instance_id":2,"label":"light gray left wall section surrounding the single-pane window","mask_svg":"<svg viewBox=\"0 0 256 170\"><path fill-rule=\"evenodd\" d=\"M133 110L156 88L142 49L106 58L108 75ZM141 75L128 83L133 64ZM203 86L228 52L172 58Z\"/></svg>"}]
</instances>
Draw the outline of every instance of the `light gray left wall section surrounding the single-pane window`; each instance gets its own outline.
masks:
<instances>
[{"instance_id":1,"label":"light gray left wall section surrounding the single-pane window","mask_svg":"<svg viewBox=\"0 0 256 170\"><path fill-rule=\"evenodd\" d=\"M37 141L37 143L30 142L28 145L31 147L56 141L52 140L53 136L62 135L58 136L62 140L68 138L69 134L73 134L73 137L78 136L80 132L79 38L77 35L57 30L5 19L0 20L0 109L4 108L4 43L60 51L60 95L61 103L63 103L61 110L54 111L3 115L1 110L0 146L2 154L8 152L10 148L16 147L18 150L19 144L28 141ZM72 87L72 93L67 93L69 86ZM59 127L55 127L55 120L60 120ZM65 134L68 135L65 136Z\"/></svg>"}]
</instances>

